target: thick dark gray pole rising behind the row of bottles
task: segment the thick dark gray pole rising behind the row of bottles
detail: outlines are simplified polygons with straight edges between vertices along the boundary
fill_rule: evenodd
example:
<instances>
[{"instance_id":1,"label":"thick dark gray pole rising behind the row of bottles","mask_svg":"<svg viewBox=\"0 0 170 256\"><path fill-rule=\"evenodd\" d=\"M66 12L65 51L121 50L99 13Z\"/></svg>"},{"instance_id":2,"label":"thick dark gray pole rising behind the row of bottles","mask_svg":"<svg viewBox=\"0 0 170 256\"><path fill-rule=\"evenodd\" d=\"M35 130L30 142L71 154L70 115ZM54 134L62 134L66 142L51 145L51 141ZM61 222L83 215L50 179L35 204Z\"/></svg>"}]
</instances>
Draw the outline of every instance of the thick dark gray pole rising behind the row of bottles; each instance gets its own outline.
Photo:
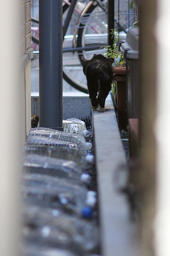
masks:
<instances>
[{"instance_id":1,"label":"thick dark gray pole rising behind the row of bottles","mask_svg":"<svg viewBox=\"0 0 170 256\"><path fill-rule=\"evenodd\" d=\"M39 0L40 126L62 129L62 0Z\"/></svg>"}]
</instances>

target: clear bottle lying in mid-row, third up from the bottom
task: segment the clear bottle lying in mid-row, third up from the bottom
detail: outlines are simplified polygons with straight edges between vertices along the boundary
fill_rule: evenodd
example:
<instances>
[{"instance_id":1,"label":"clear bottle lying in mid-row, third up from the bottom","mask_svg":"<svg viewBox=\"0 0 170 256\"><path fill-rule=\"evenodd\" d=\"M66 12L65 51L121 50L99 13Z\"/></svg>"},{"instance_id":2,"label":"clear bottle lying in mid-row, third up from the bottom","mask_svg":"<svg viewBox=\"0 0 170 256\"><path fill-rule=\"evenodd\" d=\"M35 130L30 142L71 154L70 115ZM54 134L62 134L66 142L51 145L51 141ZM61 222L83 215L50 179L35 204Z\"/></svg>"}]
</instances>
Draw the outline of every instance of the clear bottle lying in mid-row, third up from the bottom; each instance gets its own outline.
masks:
<instances>
[{"instance_id":1,"label":"clear bottle lying in mid-row, third up from the bottom","mask_svg":"<svg viewBox=\"0 0 170 256\"><path fill-rule=\"evenodd\" d=\"M23 171L67 178L80 183L83 170L73 161L44 155L24 155Z\"/></svg>"}]
</instances>

